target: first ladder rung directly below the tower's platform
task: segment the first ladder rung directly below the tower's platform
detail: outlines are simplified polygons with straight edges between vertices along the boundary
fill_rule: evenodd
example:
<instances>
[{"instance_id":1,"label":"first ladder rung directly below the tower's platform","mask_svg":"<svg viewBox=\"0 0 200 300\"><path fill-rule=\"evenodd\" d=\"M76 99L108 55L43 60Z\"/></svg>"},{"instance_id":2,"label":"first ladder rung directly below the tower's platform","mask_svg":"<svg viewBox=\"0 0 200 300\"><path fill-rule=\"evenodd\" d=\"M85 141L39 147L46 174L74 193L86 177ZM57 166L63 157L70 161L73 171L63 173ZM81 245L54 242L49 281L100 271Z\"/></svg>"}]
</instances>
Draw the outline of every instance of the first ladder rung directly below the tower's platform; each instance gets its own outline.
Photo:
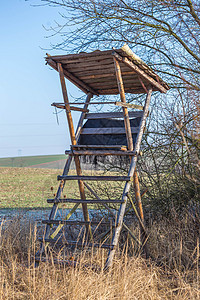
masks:
<instances>
[{"instance_id":1,"label":"first ladder rung directly below the tower's platform","mask_svg":"<svg viewBox=\"0 0 200 300\"><path fill-rule=\"evenodd\" d=\"M58 175L58 180L92 180L92 181L130 181L130 176L64 176Z\"/></svg>"}]
</instances>

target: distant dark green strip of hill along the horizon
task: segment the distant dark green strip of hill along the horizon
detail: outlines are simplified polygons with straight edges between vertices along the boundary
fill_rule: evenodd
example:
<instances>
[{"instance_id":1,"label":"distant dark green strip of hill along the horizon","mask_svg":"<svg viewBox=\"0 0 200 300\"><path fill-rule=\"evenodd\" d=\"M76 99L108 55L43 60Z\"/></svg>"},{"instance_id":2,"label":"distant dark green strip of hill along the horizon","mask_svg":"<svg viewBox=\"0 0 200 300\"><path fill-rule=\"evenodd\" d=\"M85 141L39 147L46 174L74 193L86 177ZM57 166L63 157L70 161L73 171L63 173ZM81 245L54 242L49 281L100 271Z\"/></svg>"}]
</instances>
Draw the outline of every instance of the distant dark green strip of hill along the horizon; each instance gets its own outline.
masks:
<instances>
[{"instance_id":1,"label":"distant dark green strip of hill along the horizon","mask_svg":"<svg viewBox=\"0 0 200 300\"><path fill-rule=\"evenodd\" d=\"M0 158L0 167L30 167L33 165L49 163L66 159L66 155L39 155Z\"/></svg>"}]
</instances>

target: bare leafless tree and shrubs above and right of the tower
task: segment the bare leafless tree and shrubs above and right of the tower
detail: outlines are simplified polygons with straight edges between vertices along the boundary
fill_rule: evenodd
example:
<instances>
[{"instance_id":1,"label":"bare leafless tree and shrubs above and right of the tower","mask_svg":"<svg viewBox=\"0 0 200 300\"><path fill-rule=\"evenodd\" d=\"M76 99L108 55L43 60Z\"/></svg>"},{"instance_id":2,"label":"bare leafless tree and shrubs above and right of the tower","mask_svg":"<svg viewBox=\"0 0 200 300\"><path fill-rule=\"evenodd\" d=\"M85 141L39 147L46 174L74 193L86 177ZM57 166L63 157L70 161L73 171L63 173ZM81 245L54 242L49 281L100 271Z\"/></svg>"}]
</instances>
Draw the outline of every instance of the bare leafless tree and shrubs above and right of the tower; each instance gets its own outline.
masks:
<instances>
[{"instance_id":1,"label":"bare leafless tree and shrubs above and right of the tower","mask_svg":"<svg viewBox=\"0 0 200 300\"><path fill-rule=\"evenodd\" d=\"M150 115L143 183L148 176L151 199L199 201L199 0L41 1L61 8L63 23L48 28L60 36L53 49L105 50L126 42L170 84L168 100L156 97Z\"/></svg>"}]
</instances>

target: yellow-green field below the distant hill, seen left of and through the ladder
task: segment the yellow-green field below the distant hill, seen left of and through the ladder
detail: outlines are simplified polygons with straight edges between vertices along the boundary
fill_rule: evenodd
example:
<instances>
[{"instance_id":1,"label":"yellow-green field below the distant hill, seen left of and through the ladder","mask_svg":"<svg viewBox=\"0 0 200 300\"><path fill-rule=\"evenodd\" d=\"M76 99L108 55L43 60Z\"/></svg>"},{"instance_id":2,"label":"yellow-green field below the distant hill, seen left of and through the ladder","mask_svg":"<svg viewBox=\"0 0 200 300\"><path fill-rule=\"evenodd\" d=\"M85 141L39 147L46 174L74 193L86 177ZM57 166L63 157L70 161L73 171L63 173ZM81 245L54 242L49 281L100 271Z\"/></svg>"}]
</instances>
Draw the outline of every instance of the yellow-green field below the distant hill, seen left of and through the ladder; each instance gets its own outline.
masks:
<instances>
[{"instance_id":1,"label":"yellow-green field below the distant hill, seen left of and through the ladder","mask_svg":"<svg viewBox=\"0 0 200 300\"><path fill-rule=\"evenodd\" d=\"M101 171L87 170L83 175L103 175ZM69 175L75 175L75 170L70 170ZM62 175L62 170L43 168L10 168L0 167L0 208L45 208L52 207L47 203L47 199L55 197L59 182L57 175ZM109 173L108 173L109 175ZM98 194L102 199L107 199L110 195L112 199L121 198L122 182L99 182L90 183L98 189ZM86 196L91 199L91 195L86 189ZM61 198L80 198L77 181L66 181ZM69 207L69 204L66 205ZM65 205L63 205L65 207Z\"/></svg>"}]
</instances>

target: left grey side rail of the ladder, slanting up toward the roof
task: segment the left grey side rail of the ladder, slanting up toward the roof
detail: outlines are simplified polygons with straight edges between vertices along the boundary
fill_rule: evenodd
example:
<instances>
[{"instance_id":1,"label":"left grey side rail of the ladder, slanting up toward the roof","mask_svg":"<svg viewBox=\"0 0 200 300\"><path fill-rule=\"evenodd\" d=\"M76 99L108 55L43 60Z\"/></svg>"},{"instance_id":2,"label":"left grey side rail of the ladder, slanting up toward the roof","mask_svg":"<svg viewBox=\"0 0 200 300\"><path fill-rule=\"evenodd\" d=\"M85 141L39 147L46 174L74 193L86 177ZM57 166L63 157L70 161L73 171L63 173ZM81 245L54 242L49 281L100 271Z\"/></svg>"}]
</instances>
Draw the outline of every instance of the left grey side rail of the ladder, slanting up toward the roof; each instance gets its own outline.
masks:
<instances>
[{"instance_id":1,"label":"left grey side rail of the ladder, slanting up toward the roof","mask_svg":"<svg viewBox=\"0 0 200 300\"><path fill-rule=\"evenodd\" d=\"M91 98L93 97L93 94L91 93L88 93L87 94L87 97L86 97L86 101L85 101L85 105L84 105L84 109L87 109L89 103L90 103L90 100ZM76 134L75 134L75 137L76 137L76 141L78 141L79 139L79 136L80 136L80 128L82 127L83 125L83 122L84 122L84 119L85 119L85 112L82 112L81 116L80 116L80 119L79 119L79 122L78 122L78 125L77 125L77 129L76 129ZM64 170L63 170L63 173L62 175L66 176L68 173L69 173L69 169L70 169L70 165L71 165L71 162L72 162L72 156L69 156L66 163L65 163L65 167L64 167ZM61 197L61 193L64 189L64 186L65 186L65 181L60 183L59 184L59 187L58 187L58 190L57 190L57 193L56 193L56 199L60 199ZM53 220L56 216L56 213L57 213L57 209L58 209L58 204L54 203L52 209L51 209L51 212L50 212L50 215L49 215L49 220ZM45 231L45 239L46 238L49 238L49 234L50 234L50 226L47 225L46 227L46 231Z\"/></svg>"}]
</instances>

